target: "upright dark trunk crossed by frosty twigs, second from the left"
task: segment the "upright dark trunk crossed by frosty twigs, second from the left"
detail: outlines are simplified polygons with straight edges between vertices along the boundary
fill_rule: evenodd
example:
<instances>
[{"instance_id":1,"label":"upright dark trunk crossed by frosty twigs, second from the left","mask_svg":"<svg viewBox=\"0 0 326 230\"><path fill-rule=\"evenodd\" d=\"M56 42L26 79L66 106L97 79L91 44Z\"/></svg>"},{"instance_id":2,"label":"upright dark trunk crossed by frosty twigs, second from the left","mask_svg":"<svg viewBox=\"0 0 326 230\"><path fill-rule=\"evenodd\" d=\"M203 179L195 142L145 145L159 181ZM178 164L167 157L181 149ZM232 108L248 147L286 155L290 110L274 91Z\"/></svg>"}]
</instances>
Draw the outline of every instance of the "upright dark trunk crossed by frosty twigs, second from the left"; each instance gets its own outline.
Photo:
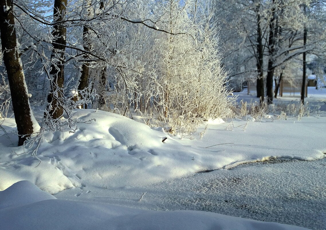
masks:
<instances>
[{"instance_id":1,"label":"upright dark trunk crossed by frosty twigs, second from the left","mask_svg":"<svg viewBox=\"0 0 326 230\"><path fill-rule=\"evenodd\" d=\"M66 14L67 0L54 0L53 8L53 52L51 55L52 63L50 66L51 91L48 94L48 108L52 119L58 119L63 116L63 84L65 80L65 49L67 29L60 24Z\"/></svg>"}]
</instances>

